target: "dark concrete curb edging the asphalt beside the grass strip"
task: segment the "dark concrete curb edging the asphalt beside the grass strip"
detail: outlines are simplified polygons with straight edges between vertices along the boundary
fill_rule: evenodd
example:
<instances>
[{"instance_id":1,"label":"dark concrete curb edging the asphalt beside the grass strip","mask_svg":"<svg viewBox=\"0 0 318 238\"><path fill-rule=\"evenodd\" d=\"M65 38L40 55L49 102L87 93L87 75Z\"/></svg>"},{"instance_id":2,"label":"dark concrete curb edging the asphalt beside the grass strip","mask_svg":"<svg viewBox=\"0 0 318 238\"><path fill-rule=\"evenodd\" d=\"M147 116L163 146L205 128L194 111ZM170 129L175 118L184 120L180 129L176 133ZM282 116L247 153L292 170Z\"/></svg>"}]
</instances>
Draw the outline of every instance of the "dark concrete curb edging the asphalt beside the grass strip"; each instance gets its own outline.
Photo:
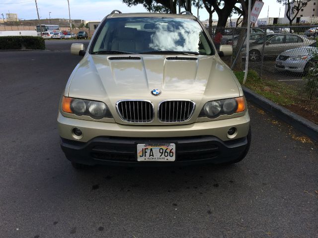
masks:
<instances>
[{"instance_id":1,"label":"dark concrete curb edging the asphalt beside the grass strip","mask_svg":"<svg viewBox=\"0 0 318 238\"><path fill-rule=\"evenodd\" d=\"M288 109L282 106L273 103L267 98L260 96L259 94L253 92L252 90L244 86L242 86L242 89L247 100L256 104L263 110L272 113L273 115L285 121L286 123L292 125L294 128L309 136L311 139L318 141L317 124L297 115L296 113L289 111Z\"/></svg>"}]
</instances>

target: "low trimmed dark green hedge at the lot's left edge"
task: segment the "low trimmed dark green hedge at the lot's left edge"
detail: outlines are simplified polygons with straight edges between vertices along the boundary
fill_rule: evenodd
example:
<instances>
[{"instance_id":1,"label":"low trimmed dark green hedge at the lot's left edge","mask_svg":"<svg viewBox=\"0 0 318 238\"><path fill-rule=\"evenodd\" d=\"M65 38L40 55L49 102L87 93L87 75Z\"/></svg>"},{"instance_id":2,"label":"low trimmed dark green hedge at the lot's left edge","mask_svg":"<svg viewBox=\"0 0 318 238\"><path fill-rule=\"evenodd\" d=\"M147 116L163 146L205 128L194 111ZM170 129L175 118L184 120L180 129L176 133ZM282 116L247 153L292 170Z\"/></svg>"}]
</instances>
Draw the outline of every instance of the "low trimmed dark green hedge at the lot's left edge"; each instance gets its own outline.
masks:
<instances>
[{"instance_id":1,"label":"low trimmed dark green hedge at the lot's left edge","mask_svg":"<svg viewBox=\"0 0 318 238\"><path fill-rule=\"evenodd\" d=\"M37 36L1 36L0 50L12 49L44 50L45 43L42 37Z\"/></svg>"}]
</instances>

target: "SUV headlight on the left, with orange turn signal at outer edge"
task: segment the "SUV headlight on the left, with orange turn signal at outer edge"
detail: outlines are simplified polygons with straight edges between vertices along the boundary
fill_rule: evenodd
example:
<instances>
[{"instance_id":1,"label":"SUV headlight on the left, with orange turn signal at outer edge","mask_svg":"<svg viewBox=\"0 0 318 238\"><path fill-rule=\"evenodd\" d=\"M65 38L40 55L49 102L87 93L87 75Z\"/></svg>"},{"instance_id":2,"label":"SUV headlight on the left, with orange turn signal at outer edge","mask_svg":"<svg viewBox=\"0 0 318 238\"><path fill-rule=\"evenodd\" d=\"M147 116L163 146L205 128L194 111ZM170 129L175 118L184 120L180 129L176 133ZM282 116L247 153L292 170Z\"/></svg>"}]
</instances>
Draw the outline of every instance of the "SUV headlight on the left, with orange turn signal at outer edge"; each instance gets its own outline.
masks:
<instances>
[{"instance_id":1,"label":"SUV headlight on the left, with orange turn signal at outer edge","mask_svg":"<svg viewBox=\"0 0 318 238\"><path fill-rule=\"evenodd\" d=\"M62 99L62 111L77 116L89 116L93 119L112 118L107 105L103 102L68 98L64 96Z\"/></svg>"}]
</instances>

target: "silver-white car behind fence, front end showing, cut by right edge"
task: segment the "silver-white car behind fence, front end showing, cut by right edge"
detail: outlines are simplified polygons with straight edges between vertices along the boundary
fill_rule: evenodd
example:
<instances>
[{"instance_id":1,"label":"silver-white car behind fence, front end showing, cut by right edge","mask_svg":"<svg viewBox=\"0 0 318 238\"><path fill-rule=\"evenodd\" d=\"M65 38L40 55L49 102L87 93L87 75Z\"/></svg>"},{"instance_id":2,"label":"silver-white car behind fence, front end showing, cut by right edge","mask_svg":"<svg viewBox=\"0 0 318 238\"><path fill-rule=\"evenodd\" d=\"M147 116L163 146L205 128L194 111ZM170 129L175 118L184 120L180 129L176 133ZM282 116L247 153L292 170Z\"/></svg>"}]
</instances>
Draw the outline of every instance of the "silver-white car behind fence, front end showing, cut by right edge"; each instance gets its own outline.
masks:
<instances>
[{"instance_id":1,"label":"silver-white car behind fence, front end showing, cut by right edge","mask_svg":"<svg viewBox=\"0 0 318 238\"><path fill-rule=\"evenodd\" d=\"M318 55L317 47L303 47L284 51L276 58L275 68L317 76L318 60L315 55Z\"/></svg>"}]
</instances>

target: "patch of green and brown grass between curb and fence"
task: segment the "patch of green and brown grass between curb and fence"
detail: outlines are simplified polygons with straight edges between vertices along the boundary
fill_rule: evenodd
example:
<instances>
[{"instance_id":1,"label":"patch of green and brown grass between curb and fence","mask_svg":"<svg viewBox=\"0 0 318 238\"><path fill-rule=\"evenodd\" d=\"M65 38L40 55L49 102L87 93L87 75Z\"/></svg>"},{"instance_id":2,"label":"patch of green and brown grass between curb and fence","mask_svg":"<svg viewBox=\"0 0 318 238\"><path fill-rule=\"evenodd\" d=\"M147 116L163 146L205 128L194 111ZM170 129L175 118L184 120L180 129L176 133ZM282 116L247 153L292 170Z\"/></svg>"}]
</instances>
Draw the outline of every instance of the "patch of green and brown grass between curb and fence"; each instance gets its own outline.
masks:
<instances>
[{"instance_id":1,"label":"patch of green and brown grass between curb and fence","mask_svg":"<svg viewBox=\"0 0 318 238\"><path fill-rule=\"evenodd\" d=\"M237 71L235 75L242 84L244 72ZM299 102L300 91L297 87L276 80L261 79L254 70L248 71L244 86L282 106L291 106ZM265 87L269 87L270 91L266 91Z\"/></svg>"}]
</instances>

